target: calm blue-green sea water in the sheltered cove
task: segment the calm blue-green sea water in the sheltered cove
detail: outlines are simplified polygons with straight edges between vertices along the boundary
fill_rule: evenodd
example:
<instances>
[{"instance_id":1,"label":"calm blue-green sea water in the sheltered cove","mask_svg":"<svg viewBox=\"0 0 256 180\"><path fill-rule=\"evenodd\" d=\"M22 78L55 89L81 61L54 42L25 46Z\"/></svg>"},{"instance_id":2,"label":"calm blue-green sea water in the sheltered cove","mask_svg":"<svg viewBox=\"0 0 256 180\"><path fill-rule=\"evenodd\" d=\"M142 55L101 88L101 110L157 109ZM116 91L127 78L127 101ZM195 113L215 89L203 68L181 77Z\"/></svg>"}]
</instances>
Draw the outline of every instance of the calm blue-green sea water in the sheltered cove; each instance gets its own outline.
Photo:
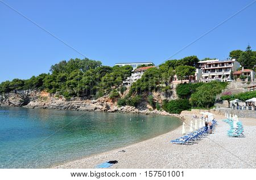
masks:
<instances>
[{"instance_id":1,"label":"calm blue-green sea water in the sheltered cove","mask_svg":"<svg viewBox=\"0 0 256 180\"><path fill-rule=\"evenodd\" d=\"M0 168L47 168L140 142L180 124L160 115L0 107Z\"/></svg>"}]
</instances>

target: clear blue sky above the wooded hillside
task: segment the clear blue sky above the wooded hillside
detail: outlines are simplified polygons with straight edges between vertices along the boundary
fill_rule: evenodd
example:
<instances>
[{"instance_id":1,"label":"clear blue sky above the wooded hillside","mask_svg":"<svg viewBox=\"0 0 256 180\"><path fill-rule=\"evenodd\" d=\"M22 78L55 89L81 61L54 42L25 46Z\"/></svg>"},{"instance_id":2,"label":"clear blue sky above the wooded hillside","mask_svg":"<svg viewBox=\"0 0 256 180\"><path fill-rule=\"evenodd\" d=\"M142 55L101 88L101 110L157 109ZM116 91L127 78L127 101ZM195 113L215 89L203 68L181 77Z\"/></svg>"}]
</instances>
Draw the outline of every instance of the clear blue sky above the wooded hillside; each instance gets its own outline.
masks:
<instances>
[{"instance_id":1,"label":"clear blue sky above the wooded hillside","mask_svg":"<svg viewBox=\"0 0 256 180\"><path fill-rule=\"evenodd\" d=\"M12 6L90 59L153 61L156 65L253 0L241 1L13 1ZM224 59L256 50L256 3L175 55ZM49 72L83 58L0 2L0 82Z\"/></svg>"}]
</instances>

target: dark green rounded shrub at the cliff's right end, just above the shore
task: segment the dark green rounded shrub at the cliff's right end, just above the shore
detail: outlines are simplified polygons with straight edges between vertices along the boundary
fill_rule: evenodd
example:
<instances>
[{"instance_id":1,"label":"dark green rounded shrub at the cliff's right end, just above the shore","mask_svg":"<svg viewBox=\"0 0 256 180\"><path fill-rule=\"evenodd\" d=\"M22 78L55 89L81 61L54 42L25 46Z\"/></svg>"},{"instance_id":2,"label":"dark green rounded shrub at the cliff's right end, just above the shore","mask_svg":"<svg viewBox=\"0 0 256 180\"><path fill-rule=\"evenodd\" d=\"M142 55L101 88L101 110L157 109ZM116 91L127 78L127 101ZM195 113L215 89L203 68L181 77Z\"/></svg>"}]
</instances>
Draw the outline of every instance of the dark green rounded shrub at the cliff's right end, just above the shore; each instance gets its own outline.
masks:
<instances>
[{"instance_id":1,"label":"dark green rounded shrub at the cliff's right end, just above the shore","mask_svg":"<svg viewBox=\"0 0 256 180\"><path fill-rule=\"evenodd\" d=\"M162 108L168 113L180 114L183 110L191 109L188 99L164 101Z\"/></svg>"}]
</instances>

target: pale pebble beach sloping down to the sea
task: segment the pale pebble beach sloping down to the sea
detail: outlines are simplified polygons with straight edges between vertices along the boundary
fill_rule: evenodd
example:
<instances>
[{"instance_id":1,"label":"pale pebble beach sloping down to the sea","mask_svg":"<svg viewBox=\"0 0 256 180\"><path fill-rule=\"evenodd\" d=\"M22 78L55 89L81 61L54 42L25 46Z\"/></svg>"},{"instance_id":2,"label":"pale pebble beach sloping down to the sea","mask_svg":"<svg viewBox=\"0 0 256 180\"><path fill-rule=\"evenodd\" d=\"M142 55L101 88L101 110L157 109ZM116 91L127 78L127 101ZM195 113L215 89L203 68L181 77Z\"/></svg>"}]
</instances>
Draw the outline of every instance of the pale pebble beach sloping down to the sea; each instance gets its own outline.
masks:
<instances>
[{"instance_id":1,"label":"pale pebble beach sloping down to the sea","mask_svg":"<svg viewBox=\"0 0 256 180\"><path fill-rule=\"evenodd\" d=\"M197 114L200 116L200 114ZM256 119L240 118L245 138L230 138L228 123L217 119L213 134L207 135L192 145L172 144L170 140L181 136L182 126L166 134L112 151L83 157L51 168L95 168L102 162L117 160L110 168L255 168L256 167ZM185 120L184 120L185 119ZM185 115L187 124L192 115ZM195 119L194 119L195 120ZM197 119L198 121L198 119ZM120 152L125 150L125 152Z\"/></svg>"}]
</instances>

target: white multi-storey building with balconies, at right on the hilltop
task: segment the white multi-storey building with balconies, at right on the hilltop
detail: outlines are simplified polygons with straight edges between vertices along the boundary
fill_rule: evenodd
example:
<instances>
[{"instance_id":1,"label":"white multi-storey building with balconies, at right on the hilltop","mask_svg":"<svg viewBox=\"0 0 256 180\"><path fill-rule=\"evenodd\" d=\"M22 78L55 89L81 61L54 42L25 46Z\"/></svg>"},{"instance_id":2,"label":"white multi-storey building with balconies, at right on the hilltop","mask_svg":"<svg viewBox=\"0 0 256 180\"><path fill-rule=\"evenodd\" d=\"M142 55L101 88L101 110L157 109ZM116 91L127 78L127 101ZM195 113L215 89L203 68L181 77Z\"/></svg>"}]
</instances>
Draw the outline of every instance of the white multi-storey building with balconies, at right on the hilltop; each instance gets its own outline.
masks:
<instances>
[{"instance_id":1,"label":"white multi-storey building with balconies, at right on the hilltop","mask_svg":"<svg viewBox=\"0 0 256 180\"><path fill-rule=\"evenodd\" d=\"M212 80L228 80L231 73L237 71L240 63L236 59L227 59L220 61L212 59L207 61L199 61L199 67L202 70L201 82L210 82ZM224 76L224 78L222 78Z\"/></svg>"}]
</instances>

